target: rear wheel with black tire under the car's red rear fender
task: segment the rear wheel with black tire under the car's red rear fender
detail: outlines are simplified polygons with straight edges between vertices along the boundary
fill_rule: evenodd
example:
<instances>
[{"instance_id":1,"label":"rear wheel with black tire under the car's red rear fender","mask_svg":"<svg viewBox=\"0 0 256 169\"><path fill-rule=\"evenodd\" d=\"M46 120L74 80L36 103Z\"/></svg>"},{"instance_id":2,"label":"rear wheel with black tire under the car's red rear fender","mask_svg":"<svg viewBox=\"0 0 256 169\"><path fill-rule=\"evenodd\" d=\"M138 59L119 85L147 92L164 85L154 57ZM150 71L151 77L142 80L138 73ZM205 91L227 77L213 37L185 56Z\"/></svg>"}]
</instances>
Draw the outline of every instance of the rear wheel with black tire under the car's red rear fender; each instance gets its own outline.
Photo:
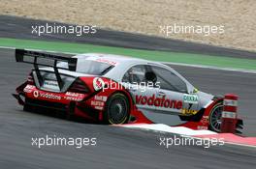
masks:
<instances>
[{"instance_id":1,"label":"rear wheel with black tire under the car's red rear fender","mask_svg":"<svg viewBox=\"0 0 256 169\"><path fill-rule=\"evenodd\" d=\"M130 104L123 94L113 94L106 102L104 123L108 125L126 124L130 117Z\"/></svg>"}]
</instances>

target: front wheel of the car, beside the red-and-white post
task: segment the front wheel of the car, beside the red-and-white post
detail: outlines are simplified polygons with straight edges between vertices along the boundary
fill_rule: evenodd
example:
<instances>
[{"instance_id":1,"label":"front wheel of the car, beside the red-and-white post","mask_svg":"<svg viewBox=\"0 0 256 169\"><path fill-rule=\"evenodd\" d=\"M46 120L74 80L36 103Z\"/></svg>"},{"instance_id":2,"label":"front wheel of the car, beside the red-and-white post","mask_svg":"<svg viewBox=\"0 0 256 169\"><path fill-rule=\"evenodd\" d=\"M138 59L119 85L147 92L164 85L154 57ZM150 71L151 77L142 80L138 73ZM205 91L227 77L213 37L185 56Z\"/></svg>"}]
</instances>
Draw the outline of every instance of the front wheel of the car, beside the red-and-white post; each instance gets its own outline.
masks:
<instances>
[{"instance_id":1,"label":"front wheel of the car, beside the red-and-white post","mask_svg":"<svg viewBox=\"0 0 256 169\"><path fill-rule=\"evenodd\" d=\"M210 130L215 132L220 132L222 111L223 111L222 102L216 103L210 110L210 113L208 116L208 125L209 125L208 127Z\"/></svg>"}]
</instances>

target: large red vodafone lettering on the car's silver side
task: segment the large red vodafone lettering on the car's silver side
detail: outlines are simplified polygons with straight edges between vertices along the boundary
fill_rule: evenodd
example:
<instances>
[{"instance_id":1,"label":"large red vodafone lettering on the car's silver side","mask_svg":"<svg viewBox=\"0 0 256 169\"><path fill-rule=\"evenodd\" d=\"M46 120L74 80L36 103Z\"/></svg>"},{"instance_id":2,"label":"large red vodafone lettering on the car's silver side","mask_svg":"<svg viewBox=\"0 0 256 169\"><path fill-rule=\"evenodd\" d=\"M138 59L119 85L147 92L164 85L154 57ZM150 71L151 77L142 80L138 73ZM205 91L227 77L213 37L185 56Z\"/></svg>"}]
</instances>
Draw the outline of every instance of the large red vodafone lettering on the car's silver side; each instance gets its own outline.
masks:
<instances>
[{"instance_id":1,"label":"large red vodafone lettering on the car's silver side","mask_svg":"<svg viewBox=\"0 0 256 169\"><path fill-rule=\"evenodd\" d=\"M182 101L175 99L166 99L165 96L162 98L156 98L155 95L151 97L147 96L136 96L136 103L142 105L154 105L156 107L165 107L165 108L182 108Z\"/></svg>"}]
</instances>

